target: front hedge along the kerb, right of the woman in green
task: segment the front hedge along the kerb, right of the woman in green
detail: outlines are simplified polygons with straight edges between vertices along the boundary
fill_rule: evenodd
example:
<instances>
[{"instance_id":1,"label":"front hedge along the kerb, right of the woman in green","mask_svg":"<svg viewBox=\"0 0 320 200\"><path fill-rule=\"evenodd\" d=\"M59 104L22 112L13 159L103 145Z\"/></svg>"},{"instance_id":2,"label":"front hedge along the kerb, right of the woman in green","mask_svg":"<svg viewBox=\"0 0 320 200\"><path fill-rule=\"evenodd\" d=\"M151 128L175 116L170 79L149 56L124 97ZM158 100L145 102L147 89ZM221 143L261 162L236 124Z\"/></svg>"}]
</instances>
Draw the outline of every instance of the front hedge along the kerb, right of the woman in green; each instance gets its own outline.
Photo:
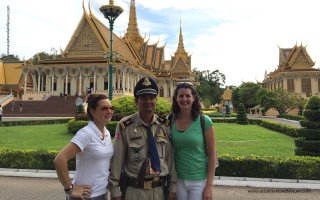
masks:
<instances>
[{"instance_id":1,"label":"front hedge along the kerb, right of the woman in green","mask_svg":"<svg viewBox=\"0 0 320 200\"><path fill-rule=\"evenodd\" d=\"M320 180L319 157L219 156L217 176Z\"/></svg>"}]
</instances>

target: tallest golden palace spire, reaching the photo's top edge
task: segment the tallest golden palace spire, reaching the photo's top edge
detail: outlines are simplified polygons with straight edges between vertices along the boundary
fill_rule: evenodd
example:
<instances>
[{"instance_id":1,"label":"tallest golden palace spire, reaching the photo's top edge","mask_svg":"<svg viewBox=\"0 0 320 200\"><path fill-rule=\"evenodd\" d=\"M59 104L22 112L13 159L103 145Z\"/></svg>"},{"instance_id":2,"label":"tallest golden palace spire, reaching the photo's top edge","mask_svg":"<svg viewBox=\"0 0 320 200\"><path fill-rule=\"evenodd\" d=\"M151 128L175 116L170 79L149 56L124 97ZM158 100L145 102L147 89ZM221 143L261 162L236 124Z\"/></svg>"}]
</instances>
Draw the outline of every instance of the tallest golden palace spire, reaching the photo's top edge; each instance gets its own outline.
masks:
<instances>
[{"instance_id":1,"label":"tallest golden palace spire, reaching the photo's top edge","mask_svg":"<svg viewBox=\"0 0 320 200\"><path fill-rule=\"evenodd\" d=\"M139 29L138 29L137 16L136 16L136 5L135 4L136 4L135 0L131 0L129 23L128 23L128 29L127 29L127 33L126 33L126 37L128 39L142 38L139 33Z\"/></svg>"}]
</instances>

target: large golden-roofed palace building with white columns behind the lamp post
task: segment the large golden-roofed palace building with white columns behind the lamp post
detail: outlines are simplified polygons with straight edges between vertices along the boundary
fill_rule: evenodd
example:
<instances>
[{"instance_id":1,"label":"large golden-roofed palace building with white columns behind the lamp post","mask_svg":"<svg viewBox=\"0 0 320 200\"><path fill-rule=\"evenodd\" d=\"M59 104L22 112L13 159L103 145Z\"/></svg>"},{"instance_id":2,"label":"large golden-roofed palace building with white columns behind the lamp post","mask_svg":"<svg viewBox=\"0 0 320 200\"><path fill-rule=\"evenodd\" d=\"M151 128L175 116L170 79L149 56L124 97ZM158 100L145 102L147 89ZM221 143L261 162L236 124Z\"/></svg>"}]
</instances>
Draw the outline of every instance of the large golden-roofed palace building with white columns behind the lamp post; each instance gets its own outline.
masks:
<instances>
[{"instance_id":1,"label":"large golden-roofed palace building with white columns behind the lamp post","mask_svg":"<svg viewBox=\"0 0 320 200\"><path fill-rule=\"evenodd\" d=\"M106 19L106 23L108 20ZM123 37L113 33L113 96L133 95L137 81L143 76L154 77L159 96L171 98L177 83L196 83L191 70L191 55L183 43L180 25L178 47L170 60L165 60L165 45L150 44L138 29L135 0L130 2L128 28ZM22 100L45 100L50 96L108 94L110 30L83 6L82 18L61 58L39 60L22 66L24 84Z\"/></svg>"}]
</instances>

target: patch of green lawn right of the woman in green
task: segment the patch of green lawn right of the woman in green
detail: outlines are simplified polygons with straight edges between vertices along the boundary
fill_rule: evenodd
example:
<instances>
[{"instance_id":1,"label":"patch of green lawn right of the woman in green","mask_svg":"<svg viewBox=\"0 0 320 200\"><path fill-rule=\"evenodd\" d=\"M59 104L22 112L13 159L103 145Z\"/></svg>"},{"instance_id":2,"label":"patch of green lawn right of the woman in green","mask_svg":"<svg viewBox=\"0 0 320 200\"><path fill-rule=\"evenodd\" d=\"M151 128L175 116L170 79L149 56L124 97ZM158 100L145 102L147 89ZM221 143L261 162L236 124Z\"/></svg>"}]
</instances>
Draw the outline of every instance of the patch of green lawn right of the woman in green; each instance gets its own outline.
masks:
<instances>
[{"instance_id":1,"label":"patch of green lawn right of the woman in green","mask_svg":"<svg viewBox=\"0 0 320 200\"><path fill-rule=\"evenodd\" d=\"M293 156L293 138L257 125L216 123L218 154Z\"/></svg>"}]
</instances>

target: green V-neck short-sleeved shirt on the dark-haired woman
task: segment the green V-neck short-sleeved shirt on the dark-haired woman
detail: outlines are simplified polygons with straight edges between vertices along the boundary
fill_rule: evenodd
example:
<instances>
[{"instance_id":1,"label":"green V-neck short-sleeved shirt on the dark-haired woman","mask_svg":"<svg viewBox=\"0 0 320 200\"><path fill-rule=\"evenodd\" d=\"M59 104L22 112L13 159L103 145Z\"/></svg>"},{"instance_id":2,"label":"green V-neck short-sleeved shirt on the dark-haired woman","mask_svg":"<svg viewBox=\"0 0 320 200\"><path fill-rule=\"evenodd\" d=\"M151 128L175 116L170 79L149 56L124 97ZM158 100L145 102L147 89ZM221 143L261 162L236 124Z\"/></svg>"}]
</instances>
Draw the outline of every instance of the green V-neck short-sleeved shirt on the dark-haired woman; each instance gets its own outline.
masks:
<instances>
[{"instance_id":1,"label":"green V-neck short-sleeved shirt on the dark-haired woman","mask_svg":"<svg viewBox=\"0 0 320 200\"><path fill-rule=\"evenodd\" d=\"M205 130L213 125L210 117L205 116ZM203 180L208 175L208 158L204 147L200 115L192 121L187 130L180 132L176 123L172 126L174 160L179 179Z\"/></svg>"}]
</instances>

